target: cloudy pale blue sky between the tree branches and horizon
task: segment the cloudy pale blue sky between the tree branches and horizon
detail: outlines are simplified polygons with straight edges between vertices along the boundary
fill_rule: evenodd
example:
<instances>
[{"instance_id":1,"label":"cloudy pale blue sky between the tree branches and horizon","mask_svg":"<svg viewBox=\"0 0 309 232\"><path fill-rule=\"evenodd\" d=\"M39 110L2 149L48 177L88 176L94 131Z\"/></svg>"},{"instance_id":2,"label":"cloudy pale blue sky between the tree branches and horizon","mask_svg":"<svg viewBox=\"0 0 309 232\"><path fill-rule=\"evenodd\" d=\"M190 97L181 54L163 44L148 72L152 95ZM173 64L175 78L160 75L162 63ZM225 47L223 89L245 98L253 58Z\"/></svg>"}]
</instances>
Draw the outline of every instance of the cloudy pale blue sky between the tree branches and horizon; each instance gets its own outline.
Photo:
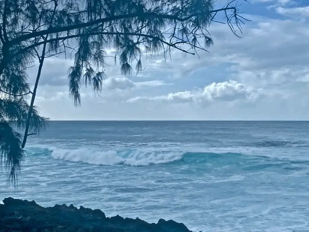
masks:
<instances>
[{"instance_id":1,"label":"cloudy pale blue sky between the tree branches and horizon","mask_svg":"<svg viewBox=\"0 0 309 232\"><path fill-rule=\"evenodd\" d=\"M73 60L48 58L35 104L51 120L309 120L309 2L249 2L239 0L252 20L241 38L212 24L209 53L144 57L146 69L128 78L112 60L102 93L82 88L77 108L66 80ZM32 84L37 67L29 70Z\"/></svg>"}]
</instances>

